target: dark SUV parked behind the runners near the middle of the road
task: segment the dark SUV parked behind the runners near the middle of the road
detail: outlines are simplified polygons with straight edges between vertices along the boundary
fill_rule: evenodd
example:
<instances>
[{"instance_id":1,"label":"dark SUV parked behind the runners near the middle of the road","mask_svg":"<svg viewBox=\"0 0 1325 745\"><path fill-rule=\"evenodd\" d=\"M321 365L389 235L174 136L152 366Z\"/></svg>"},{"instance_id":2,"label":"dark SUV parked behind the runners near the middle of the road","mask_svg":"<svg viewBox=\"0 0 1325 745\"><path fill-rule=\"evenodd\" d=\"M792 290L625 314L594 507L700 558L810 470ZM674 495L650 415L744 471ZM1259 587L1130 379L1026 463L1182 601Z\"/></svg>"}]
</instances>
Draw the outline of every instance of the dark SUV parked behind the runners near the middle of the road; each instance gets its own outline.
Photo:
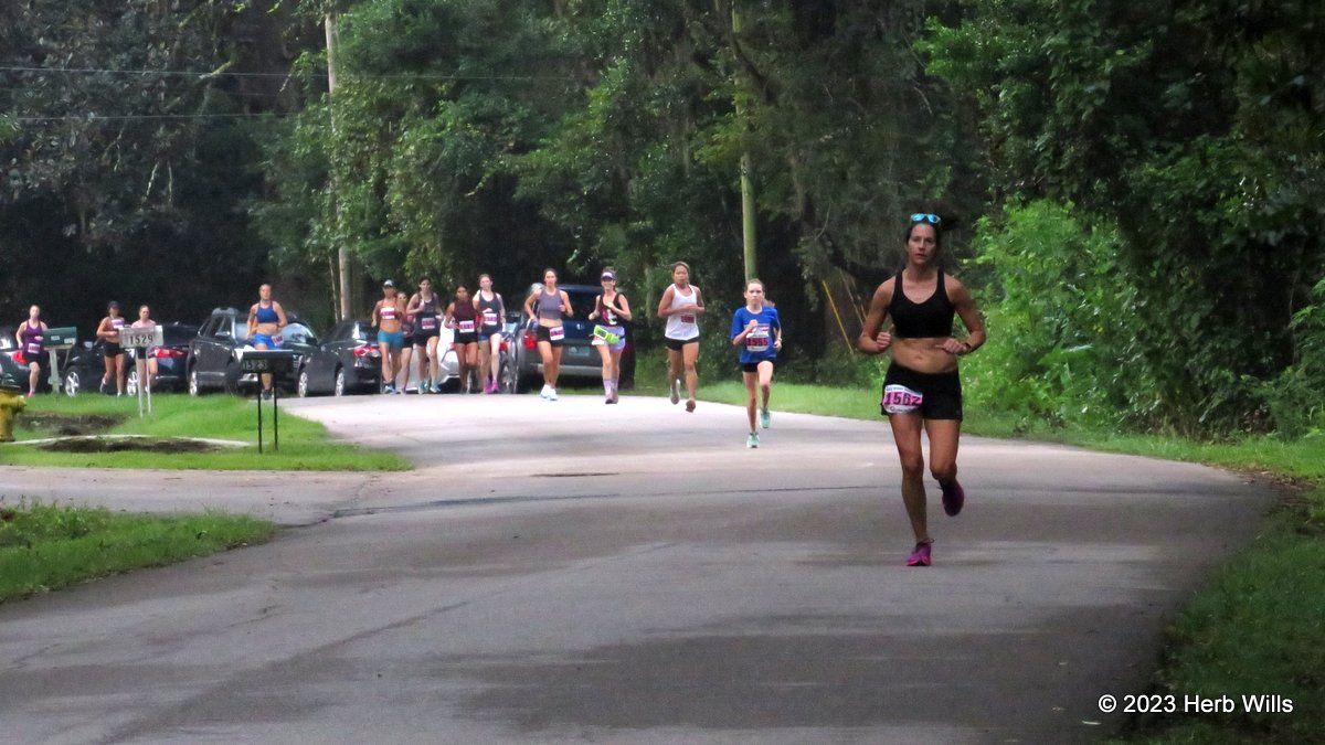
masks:
<instances>
[{"instance_id":1,"label":"dark SUV parked behind the runners near the middle of the road","mask_svg":"<svg viewBox=\"0 0 1325 745\"><path fill-rule=\"evenodd\" d=\"M594 298L603 293L595 285L558 285L566 290L571 300L574 314L562 326L566 329L566 342L562 346L562 378L603 379L603 358L592 346L594 322L588 314L594 312ZM538 354L538 342L534 335L535 321L525 314L525 298L535 292L542 292L542 284L530 285L529 290L519 298L521 308L515 315L514 343L514 382L513 387L518 392L525 392L534 384L541 384L543 378L543 361ZM643 318L644 308L631 305L631 310L637 318ZM621 387L629 388L635 384L635 342L631 327L625 330L625 349L621 351Z\"/></svg>"}]
</instances>

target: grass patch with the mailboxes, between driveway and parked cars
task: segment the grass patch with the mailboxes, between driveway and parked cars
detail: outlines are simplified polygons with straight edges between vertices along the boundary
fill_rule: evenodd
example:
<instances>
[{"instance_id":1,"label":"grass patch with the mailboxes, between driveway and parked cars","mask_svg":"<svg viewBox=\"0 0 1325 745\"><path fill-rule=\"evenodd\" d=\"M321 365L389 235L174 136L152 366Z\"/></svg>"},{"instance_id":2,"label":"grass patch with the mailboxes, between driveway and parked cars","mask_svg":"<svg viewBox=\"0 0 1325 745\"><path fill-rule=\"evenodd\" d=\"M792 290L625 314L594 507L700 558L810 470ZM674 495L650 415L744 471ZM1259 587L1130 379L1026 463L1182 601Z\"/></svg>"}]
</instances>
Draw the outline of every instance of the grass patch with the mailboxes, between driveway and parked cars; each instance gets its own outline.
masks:
<instances>
[{"instance_id":1,"label":"grass patch with the mailboxes, between driveway and parked cars","mask_svg":"<svg viewBox=\"0 0 1325 745\"><path fill-rule=\"evenodd\" d=\"M281 449L272 452L270 430L265 437L265 452L257 452L257 414L253 402L236 396L158 395L152 414L138 419L136 399L117 399L102 395L77 398L36 396L19 415L15 437L32 440L53 436L46 430L24 424L25 415L54 414L121 415L126 419L106 431L115 435L151 435L155 437L209 437L252 443L244 448L223 448L205 453L66 453L46 452L34 445L0 444L0 464L9 465L64 465L97 468L170 468L220 471L405 471L409 463L394 453L356 448L333 443L322 424L281 414ZM265 411L265 427L270 427L270 408Z\"/></svg>"}]
</instances>

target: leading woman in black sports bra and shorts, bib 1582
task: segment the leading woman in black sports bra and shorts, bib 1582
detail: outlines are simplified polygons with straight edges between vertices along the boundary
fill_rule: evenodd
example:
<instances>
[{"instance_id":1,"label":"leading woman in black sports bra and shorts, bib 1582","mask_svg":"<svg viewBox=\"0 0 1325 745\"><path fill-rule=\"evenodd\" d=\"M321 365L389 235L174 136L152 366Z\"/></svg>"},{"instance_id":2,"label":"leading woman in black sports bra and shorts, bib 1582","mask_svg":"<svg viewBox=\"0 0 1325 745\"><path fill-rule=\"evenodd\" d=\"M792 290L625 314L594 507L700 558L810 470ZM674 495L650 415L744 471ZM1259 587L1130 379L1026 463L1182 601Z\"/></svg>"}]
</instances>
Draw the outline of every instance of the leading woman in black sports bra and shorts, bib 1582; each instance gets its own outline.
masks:
<instances>
[{"instance_id":1,"label":"leading woman in black sports bra and shorts, bib 1582","mask_svg":"<svg viewBox=\"0 0 1325 745\"><path fill-rule=\"evenodd\" d=\"M902 501L916 533L916 550L906 566L929 566L934 542L926 521L921 428L929 436L929 471L943 493L943 512L955 516L966 502L966 492L957 483L957 441L962 430L957 357L984 343L984 322L971 293L938 265L942 225L937 215L910 216L906 268L874 290L865 326L856 339L861 351L890 351L893 358L884 376L880 408L893 427L902 465ZM953 337L954 314L962 317L966 341ZM885 317L892 318L886 330Z\"/></svg>"}]
</instances>

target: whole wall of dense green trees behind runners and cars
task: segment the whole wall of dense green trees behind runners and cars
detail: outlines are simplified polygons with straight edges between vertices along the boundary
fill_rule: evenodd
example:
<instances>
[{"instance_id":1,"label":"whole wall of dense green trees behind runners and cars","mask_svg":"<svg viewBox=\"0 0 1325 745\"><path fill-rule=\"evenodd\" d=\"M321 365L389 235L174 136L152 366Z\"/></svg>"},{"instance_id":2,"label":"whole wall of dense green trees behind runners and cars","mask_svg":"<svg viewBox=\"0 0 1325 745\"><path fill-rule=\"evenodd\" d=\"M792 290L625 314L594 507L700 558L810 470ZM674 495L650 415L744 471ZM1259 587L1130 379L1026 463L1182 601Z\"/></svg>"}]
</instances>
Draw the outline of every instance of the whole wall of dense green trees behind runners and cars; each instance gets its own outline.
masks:
<instances>
[{"instance_id":1,"label":"whole wall of dense green trees behind runners and cars","mask_svg":"<svg viewBox=\"0 0 1325 745\"><path fill-rule=\"evenodd\" d=\"M939 209L991 321L979 406L1304 435L1325 416L1322 24L1305 0L11 4L3 64L216 74L0 70L0 117L188 115L0 125L0 312L117 296L187 319L270 270L325 327L344 248L356 313L384 277L489 272L511 298L603 264L647 308L684 258L721 317L749 154L800 374L859 378L837 318L855 334L904 216ZM195 117L260 113L289 115Z\"/></svg>"}]
</instances>

